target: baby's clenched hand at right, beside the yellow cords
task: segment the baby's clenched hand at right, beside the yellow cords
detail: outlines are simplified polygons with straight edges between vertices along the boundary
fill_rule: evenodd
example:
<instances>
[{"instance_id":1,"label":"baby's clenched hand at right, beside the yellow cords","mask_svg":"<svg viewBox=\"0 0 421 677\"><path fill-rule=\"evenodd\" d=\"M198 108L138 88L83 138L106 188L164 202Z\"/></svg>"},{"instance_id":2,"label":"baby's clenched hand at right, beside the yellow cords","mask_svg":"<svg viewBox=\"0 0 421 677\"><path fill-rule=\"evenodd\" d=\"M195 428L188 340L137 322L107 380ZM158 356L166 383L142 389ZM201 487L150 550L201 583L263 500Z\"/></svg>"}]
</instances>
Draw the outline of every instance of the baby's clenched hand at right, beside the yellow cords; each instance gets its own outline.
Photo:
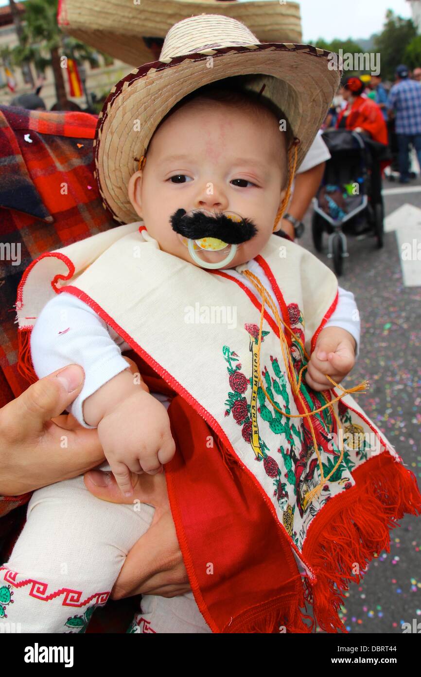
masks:
<instances>
[{"instance_id":1,"label":"baby's clenched hand at right, beside the yellow cords","mask_svg":"<svg viewBox=\"0 0 421 677\"><path fill-rule=\"evenodd\" d=\"M355 364L355 348L355 339L345 329L323 329L307 365L307 384L317 391L333 388L334 385L324 374L328 374L336 383L341 383Z\"/></svg>"}]
</instances>

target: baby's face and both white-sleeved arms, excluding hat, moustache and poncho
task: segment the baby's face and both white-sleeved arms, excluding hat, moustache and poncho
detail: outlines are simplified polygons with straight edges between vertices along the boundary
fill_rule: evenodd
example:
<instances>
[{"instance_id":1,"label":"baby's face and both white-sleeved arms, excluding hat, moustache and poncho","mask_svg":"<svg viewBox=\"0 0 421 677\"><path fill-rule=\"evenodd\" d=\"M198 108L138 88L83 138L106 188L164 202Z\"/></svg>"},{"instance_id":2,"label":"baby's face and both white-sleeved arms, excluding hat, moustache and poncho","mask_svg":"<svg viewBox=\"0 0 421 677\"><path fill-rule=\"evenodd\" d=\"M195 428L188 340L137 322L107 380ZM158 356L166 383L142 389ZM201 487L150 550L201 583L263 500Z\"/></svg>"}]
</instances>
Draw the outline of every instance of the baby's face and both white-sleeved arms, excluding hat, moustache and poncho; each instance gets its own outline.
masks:
<instances>
[{"instance_id":1,"label":"baby's face and both white-sleeved arms, excluding hat, moustache and poncho","mask_svg":"<svg viewBox=\"0 0 421 677\"><path fill-rule=\"evenodd\" d=\"M208 91L212 96L212 90ZM224 90L220 89L219 100L218 90L215 99L206 98L209 93L202 92L197 90L190 100L183 100L172 109L157 129L148 148L145 169L132 175L128 194L148 234L159 242L159 248L193 265L199 264L192 260L170 226L170 219L180 206L187 211L203 209L247 215L259 224L259 229L239 247L229 264L235 268L254 259L272 234L288 179L286 134L279 131L268 108L255 106L253 114L242 110L241 103L247 104L247 96L238 95L235 104L232 92L224 97ZM209 183L213 188L210 193ZM220 253L203 250L204 261L214 263L218 258L221 259ZM58 352L55 341L65 329L61 320L64 312L64 324L78 328L76 339L74 331L64 336L66 357L64 346ZM99 346L103 323L93 315L86 304L66 293L50 301L32 333L32 361L40 378L58 364L67 364L66 359L83 364L86 381L72 413L82 424L97 427L116 481L122 493L130 496L130 472L162 471L174 456L174 441L162 404L146 389L139 388L107 336L104 336L107 346ZM342 292L339 307L318 336L305 374L305 380L314 389L331 387L324 374L340 383L351 371L358 325L352 318L356 317L352 294ZM324 346L328 348L327 355ZM113 374L113 368L118 373ZM101 374L101 385L93 374Z\"/></svg>"}]
</instances>

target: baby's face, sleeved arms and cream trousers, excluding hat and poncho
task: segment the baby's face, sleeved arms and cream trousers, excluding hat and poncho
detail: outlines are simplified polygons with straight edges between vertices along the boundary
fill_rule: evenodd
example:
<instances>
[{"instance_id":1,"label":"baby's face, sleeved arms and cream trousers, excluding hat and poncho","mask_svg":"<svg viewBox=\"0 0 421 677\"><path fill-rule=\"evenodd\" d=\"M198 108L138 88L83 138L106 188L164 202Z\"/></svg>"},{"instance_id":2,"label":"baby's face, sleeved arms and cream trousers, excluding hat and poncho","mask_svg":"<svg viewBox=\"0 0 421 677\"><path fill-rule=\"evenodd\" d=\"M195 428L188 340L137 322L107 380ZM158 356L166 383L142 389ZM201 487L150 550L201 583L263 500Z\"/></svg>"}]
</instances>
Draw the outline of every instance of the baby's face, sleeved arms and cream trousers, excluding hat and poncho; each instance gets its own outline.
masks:
<instances>
[{"instance_id":1,"label":"baby's face, sleeved arms and cream trousers, excluding hat and poncho","mask_svg":"<svg viewBox=\"0 0 421 677\"><path fill-rule=\"evenodd\" d=\"M247 104L252 108L248 109ZM272 234L285 194L286 143L286 134L279 131L276 117L263 104L252 105L242 93L234 95L215 88L207 93L198 90L176 106L155 132L144 169L134 173L129 181L130 202L143 219L147 233L159 242L159 248L192 265L199 264L192 261L189 250L170 225L170 217L180 206L187 211L232 211L247 215L258 223L257 234L239 246L229 267L253 263ZM208 190L209 183L212 192ZM220 254L203 250L204 261L213 263L218 258ZM356 316L355 310L352 294L342 291L335 313L318 336L305 374L308 385L315 390L331 387L325 374L339 383L353 367L359 330L358 323L351 319ZM147 387L139 385L139 378L133 377L121 355L128 348L89 305L66 292L45 305L31 336L32 362L39 378L69 363L84 367L84 387L71 411L82 425L97 427L104 454L125 496L132 494L130 473L158 473L176 450L166 410L168 398L149 393ZM97 576L98 588L104 583L103 571L97 571L101 560L101 568L109 567L112 574L107 575L102 589L112 586L124 556L119 552L116 557L111 551L128 552L149 525L153 508L143 506L143 512L136 513L127 505L103 504L83 489L82 479L76 478L34 492L28 506L28 521L7 567L24 572L30 565L36 571L42 570L44 577L57 574L58 563L50 549L53 533L47 535L43 528L56 519L59 531L66 535L67 547L76 548L76 557L83 562L78 569L86 572L89 568L89 578ZM53 499L58 500L62 492L63 498L53 506ZM69 521L64 506L66 496L73 502L68 510ZM42 512L40 504L45 506ZM109 513L114 510L121 519L113 523ZM36 517L39 529L32 525L31 517ZM101 541L103 529L109 541L106 547ZM84 544L74 542L70 532L82 530ZM49 571L41 567L43 552L49 561ZM59 553L60 561L67 562L72 557L70 552ZM47 562L43 564L45 567ZM66 571L73 588L74 571L69 567ZM39 578L41 573L36 575ZM64 616L54 615L51 622L48 606L38 603L36 614L27 613L26 607L22 617L25 632L71 630L68 609L63 610ZM14 618L20 619L16 603L14 607ZM22 605L22 612L23 608ZM84 628L86 619L80 623ZM145 596L141 617L133 627L147 627L155 632L210 632L191 594L172 600L149 600Z\"/></svg>"}]
</instances>

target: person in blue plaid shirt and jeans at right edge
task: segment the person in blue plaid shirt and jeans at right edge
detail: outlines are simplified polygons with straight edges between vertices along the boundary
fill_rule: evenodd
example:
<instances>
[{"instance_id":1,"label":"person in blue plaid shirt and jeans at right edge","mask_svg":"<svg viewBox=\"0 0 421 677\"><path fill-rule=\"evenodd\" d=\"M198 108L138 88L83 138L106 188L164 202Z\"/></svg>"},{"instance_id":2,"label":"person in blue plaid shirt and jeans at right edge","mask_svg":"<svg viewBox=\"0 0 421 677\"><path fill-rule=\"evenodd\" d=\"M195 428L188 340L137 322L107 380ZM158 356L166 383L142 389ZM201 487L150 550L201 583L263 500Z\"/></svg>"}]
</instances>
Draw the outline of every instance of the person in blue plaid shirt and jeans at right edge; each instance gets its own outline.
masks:
<instances>
[{"instance_id":1,"label":"person in blue plaid shirt and jeans at right edge","mask_svg":"<svg viewBox=\"0 0 421 677\"><path fill-rule=\"evenodd\" d=\"M395 117L399 148L399 182L410 182L410 144L414 147L421 171L421 87L411 80L407 66L398 66L396 84L389 93L389 117Z\"/></svg>"}]
</instances>

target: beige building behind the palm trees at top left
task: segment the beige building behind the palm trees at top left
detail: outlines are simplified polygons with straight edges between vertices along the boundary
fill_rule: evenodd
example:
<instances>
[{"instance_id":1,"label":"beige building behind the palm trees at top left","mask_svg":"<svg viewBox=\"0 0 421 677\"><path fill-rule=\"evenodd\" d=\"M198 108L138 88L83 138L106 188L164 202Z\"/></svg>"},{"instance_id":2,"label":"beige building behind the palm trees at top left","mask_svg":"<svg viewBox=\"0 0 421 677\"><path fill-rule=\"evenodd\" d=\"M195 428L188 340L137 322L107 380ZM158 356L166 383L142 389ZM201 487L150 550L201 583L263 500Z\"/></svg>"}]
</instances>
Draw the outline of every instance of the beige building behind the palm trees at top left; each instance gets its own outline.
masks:
<instances>
[{"instance_id":1,"label":"beige building behind the palm trees at top left","mask_svg":"<svg viewBox=\"0 0 421 677\"><path fill-rule=\"evenodd\" d=\"M16 3L22 22L25 18L25 3ZM19 95L34 91L34 88L25 83L24 72L22 68L13 66L7 52L18 45L18 36L14 26L13 18L9 9L9 5L0 7L0 104L8 105L11 100ZM64 56L66 54L64 53ZM116 84L124 75L132 70L132 66L124 62L113 59L111 57L104 59L103 56L97 53L97 65L91 66L89 62L80 64L82 70L86 72L86 89L92 94L94 93L97 99L101 99L104 95L108 95L110 89ZM34 64L31 64L32 73L36 85L40 83L41 73L36 72ZM65 70L65 69L64 69ZM51 67L47 66L45 69L45 82L41 89L40 96L45 101L47 110L56 102L55 87L53 79L53 71ZM75 102L80 108L86 108L86 97L82 91L82 95L74 97L70 95L70 83L67 72L63 73L64 83L68 99Z\"/></svg>"}]
</instances>

